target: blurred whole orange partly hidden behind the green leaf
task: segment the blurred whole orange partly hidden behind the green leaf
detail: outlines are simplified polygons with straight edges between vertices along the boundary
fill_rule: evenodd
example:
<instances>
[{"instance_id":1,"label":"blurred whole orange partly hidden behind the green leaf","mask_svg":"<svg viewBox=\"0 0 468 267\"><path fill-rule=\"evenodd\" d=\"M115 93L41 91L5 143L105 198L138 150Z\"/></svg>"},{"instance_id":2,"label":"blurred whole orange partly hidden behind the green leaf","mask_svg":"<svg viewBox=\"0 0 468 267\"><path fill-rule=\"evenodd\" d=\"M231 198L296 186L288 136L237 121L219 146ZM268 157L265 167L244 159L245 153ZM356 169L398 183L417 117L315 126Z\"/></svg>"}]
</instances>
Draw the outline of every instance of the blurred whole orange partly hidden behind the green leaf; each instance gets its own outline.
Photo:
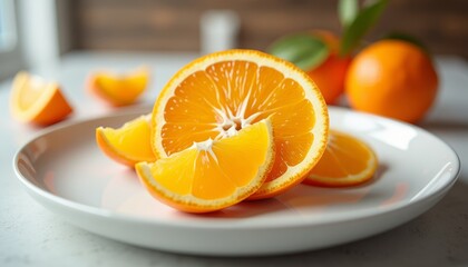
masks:
<instances>
[{"instance_id":1,"label":"blurred whole orange partly hidden behind the green leaf","mask_svg":"<svg viewBox=\"0 0 468 267\"><path fill-rule=\"evenodd\" d=\"M322 39L330 50L329 57L308 75L316 83L326 103L334 103L344 90L344 79L351 57L340 57L340 40L330 31L315 30L313 36Z\"/></svg>"}]
</instances>

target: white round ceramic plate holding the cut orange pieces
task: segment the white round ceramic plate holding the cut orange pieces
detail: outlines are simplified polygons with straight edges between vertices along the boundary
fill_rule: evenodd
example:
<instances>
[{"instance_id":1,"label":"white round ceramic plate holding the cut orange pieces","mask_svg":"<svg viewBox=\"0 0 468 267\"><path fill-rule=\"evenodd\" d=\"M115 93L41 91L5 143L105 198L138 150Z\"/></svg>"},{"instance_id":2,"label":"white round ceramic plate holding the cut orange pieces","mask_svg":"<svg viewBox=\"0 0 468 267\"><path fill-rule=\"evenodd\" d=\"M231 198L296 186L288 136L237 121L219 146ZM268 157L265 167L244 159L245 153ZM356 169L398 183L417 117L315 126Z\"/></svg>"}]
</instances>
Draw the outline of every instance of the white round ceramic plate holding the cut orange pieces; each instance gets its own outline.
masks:
<instances>
[{"instance_id":1,"label":"white round ceramic plate holding the cut orange pieces","mask_svg":"<svg viewBox=\"0 0 468 267\"><path fill-rule=\"evenodd\" d=\"M187 215L153 199L133 170L96 146L97 126L136 116L56 127L17 152L16 174L46 208L98 235L169 251L247 256L323 248L393 228L440 200L460 169L454 150L422 129L330 108L333 128L376 150L380 167L371 182L344 189L301 185L270 200Z\"/></svg>"}]
</instances>

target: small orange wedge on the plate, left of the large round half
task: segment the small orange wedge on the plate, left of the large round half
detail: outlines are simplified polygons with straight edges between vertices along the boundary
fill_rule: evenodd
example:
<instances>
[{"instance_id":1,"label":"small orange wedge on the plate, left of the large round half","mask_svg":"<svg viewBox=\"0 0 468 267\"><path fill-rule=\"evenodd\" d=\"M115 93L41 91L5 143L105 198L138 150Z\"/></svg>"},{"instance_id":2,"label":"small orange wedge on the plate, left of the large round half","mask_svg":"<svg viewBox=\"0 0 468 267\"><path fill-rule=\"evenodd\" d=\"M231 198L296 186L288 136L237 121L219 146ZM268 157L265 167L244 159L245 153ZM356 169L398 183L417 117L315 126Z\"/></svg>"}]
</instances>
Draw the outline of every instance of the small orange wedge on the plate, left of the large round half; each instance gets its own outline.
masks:
<instances>
[{"instance_id":1,"label":"small orange wedge on the plate, left of the large round half","mask_svg":"<svg viewBox=\"0 0 468 267\"><path fill-rule=\"evenodd\" d=\"M98 127L99 148L117 162L134 167L139 161L154 161L150 140L150 116L140 116L120 128Z\"/></svg>"}]
</instances>

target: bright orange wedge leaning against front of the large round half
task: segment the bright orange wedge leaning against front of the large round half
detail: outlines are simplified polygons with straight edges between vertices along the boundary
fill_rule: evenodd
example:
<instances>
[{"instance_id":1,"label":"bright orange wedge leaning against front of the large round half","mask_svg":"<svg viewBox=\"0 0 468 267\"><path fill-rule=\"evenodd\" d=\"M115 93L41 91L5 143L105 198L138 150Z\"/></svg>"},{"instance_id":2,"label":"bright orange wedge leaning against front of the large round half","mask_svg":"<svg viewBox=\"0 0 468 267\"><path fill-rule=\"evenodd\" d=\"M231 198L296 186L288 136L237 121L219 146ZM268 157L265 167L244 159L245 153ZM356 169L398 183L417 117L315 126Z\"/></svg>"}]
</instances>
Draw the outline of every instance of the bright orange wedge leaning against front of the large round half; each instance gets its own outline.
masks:
<instances>
[{"instance_id":1,"label":"bright orange wedge leaning against front of the large round half","mask_svg":"<svg viewBox=\"0 0 468 267\"><path fill-rule=\"evenodd\" d=\"M266 179L274 160L272 126L262 120L231 137L194 142L156 162L139 162L148 191L183 211L208 212L237 204Z\"/></svg>"}]
</instances>

